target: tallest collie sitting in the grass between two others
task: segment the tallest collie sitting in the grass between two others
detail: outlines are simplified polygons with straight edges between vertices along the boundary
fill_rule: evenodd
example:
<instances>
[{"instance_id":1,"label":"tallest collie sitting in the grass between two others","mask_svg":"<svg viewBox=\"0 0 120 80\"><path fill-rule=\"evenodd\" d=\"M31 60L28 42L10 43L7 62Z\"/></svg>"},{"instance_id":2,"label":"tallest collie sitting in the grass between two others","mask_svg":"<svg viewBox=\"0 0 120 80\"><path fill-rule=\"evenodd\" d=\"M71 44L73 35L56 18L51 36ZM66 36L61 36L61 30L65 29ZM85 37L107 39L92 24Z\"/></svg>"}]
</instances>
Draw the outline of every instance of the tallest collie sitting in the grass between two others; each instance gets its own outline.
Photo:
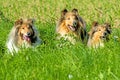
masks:
<instances>
[{"instance_id":1,"label":"tallest collie sitting in the grass between two others","mask_svg":"<svg viewBox=\"0 0 120 80\"><path fill-rule=\"evenodd\" d=\"M76 40L84 42L86 37L86 23L79 16L77 9L73 9L72 11L67 11L67 9L62 10L61 17L56 26L56 33L60 34L57 37L58 39L63 37L72 44Z\"/></svg>"}]
</instances>

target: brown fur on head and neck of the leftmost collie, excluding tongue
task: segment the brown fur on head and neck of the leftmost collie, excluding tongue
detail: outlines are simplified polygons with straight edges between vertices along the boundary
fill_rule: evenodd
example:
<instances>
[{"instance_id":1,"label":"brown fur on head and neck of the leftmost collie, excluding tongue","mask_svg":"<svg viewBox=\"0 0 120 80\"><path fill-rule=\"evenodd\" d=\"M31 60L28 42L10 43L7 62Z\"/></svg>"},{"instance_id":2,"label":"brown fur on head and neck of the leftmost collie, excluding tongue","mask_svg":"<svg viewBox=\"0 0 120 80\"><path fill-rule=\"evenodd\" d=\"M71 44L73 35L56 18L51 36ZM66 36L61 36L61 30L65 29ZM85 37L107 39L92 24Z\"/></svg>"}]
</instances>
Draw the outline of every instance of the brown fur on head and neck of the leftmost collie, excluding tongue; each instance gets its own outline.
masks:
<instances>
[{"instance_id":1,"label":"brown fur on head and neck of the leftmost collie, excluding tongue","mask_svg":"<svg viewBox=\"0 0 120 80\"><path fill-rule=\"evenodd\" d=\"M28 36L30 38L30 40L27 42L31 45L35 33L32 26L33 26L32 20L23 21L22 19L20 19L15 22L15 27L17 27L17 36L18 36L17 43L19 45L22 44L22 42L24 41L24 35L27 35L27 33L29 33Z\"/></svg>"}]
</instances>

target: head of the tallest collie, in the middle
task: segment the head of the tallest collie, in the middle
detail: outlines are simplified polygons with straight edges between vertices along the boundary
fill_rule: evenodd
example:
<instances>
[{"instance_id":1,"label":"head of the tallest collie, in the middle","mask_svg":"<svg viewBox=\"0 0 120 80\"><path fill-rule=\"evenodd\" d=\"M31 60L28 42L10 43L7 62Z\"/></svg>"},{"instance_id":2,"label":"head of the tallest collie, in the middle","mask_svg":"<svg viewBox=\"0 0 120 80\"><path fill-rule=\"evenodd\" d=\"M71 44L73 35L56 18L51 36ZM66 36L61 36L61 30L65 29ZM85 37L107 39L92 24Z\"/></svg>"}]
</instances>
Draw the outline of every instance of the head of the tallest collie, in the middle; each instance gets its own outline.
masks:
<instances>
[{"instance_id":1,"label":"head of the tallest collie, in the middle","mask_svg":"<svg viewBox=\"0 0 120 80\"><path fill-rule=\"evenodd\" d=\"M71 31L76 31L79 27L79 15L78 10L73 9L72 11L67 11L64 9L61 13L62 20L65 21L65 25Z\"/></svg>"}]
</instances>

